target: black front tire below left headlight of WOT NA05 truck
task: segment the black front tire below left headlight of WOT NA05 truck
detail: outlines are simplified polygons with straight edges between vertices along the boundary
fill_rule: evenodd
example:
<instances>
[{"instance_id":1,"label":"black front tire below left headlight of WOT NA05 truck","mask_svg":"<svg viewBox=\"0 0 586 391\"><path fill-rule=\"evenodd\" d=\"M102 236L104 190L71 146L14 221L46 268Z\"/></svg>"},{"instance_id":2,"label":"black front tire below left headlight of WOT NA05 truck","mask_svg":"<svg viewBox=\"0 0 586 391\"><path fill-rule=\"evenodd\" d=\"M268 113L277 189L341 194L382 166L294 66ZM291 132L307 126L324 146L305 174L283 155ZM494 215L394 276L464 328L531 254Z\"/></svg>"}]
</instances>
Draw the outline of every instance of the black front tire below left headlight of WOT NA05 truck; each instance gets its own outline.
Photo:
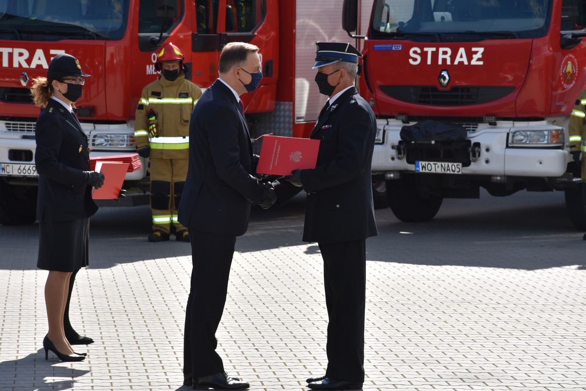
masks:
<instances>
[{"instance_id":1,"label":"black front tire below left headlight of WOT NA05 truck","mask_svg":"<svg viewBox=\"0 0 586 391\"><path fill-rule=\"evenodd\" d=\"M444 197L422 194L413 175L387 181L387 199L395 217L404 222L429 221L440 210Z\"/></svg>"}]
</instances>

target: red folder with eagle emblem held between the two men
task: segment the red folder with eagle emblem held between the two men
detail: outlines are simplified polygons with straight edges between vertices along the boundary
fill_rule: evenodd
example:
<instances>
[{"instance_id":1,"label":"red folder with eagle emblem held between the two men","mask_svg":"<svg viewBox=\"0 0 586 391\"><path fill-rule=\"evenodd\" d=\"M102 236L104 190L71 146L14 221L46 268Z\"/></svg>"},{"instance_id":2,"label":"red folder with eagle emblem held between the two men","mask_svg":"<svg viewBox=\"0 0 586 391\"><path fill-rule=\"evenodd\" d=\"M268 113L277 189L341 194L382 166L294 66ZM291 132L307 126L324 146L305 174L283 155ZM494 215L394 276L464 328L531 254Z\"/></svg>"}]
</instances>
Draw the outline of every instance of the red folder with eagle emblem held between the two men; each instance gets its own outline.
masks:
<instances>
[{"instance_id":1,"label":"red folder with eagle emblem held between the two men","mask_svg":"<svg viewBox=\"0 0 586 391\"><path fill-rule=\"evenodd\" d=\"M289 175L297 169L315 169L319 140L264 136L257 173Z\"/></svg>"}]
</instances>

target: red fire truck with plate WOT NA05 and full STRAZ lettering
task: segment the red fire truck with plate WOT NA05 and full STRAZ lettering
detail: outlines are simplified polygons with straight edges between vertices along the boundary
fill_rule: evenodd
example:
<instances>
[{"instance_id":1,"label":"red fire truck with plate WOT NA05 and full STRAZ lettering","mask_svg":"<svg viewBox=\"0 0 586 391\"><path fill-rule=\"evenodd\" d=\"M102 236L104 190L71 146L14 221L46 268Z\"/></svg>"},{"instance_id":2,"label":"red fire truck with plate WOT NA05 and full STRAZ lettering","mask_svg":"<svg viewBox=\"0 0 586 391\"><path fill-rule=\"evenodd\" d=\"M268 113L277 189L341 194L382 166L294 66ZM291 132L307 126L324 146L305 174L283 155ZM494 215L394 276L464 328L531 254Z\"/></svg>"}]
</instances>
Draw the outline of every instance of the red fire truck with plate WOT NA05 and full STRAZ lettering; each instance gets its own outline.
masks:
<instances>
[{"instance_id":1,"label":"red fire truck with plate WOT NA05 and full STRAZ lettering","mask_svg":"<svg viewBox=\"0 0 586 391\"><path fill-rule=\"evenodd\" d=\"M360 1L343 8L350 34ZM481 187L563 190L586 229L568 153L568 118L586 85L586 2L375 0L366 17L360 94L379 118L373 177L397 218L432 219L444 198L478 198ZM434 133L448 123L464 137ZM406 136L424 125L427 134Z\"/></svg>"}]
</instances>

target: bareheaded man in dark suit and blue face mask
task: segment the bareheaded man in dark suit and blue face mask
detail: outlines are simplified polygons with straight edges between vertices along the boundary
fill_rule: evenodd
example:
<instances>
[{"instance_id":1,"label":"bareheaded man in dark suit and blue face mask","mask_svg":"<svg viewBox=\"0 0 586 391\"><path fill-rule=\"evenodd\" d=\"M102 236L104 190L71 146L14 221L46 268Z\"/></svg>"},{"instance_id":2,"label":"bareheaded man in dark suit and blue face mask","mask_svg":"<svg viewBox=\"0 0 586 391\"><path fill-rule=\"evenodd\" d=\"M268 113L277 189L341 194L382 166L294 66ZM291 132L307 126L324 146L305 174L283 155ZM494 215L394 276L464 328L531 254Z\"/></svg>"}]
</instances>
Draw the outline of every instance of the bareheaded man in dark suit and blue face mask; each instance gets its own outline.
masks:
<instances>
[{"instance_id":1,"label":"bareheaded man in dark suit and blue face mask","mask_svg":"<svg viewBox=\"0 0 586 391\"><path fill-rule=\"evenodd\" d=\"M260 83L258 47L224 46L220 77L200 97L189 125L189 169L179 222L189 228L193 271L185 314L183 374L194 389L246 389L227 375L216 353L236 236L248 227L250 206L272 205L277 196L253 176L253 155L240 95Z\"/></svg>"}]
</instances>

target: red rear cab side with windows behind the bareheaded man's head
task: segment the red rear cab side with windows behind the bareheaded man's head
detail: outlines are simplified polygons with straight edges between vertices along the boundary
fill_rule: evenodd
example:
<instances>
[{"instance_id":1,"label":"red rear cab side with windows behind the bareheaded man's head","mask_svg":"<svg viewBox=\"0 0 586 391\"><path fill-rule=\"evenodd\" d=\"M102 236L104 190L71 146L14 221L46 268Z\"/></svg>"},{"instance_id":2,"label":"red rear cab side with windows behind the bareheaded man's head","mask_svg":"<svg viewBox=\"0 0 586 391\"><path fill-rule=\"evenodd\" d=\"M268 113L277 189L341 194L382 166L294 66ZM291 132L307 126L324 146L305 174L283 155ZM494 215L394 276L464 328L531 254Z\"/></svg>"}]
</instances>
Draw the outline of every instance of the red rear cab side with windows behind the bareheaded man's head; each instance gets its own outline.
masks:
<instances>
[{"instance_id":1,"label":"red rear cab side with windows behind the bareheaded man's head","mask_svg":"<svg viewBox=\"0 0 586 391\"><path fill-rule=\"evenodd\" d=\"M193 33L193 81L210 85L218 76L222 47L247 42L260 47L263 81L257 90L242 95L246 113L272 111L275 107L278 60L277 1L195 0L197 32Z\"/></svg>"}]
</instances>

